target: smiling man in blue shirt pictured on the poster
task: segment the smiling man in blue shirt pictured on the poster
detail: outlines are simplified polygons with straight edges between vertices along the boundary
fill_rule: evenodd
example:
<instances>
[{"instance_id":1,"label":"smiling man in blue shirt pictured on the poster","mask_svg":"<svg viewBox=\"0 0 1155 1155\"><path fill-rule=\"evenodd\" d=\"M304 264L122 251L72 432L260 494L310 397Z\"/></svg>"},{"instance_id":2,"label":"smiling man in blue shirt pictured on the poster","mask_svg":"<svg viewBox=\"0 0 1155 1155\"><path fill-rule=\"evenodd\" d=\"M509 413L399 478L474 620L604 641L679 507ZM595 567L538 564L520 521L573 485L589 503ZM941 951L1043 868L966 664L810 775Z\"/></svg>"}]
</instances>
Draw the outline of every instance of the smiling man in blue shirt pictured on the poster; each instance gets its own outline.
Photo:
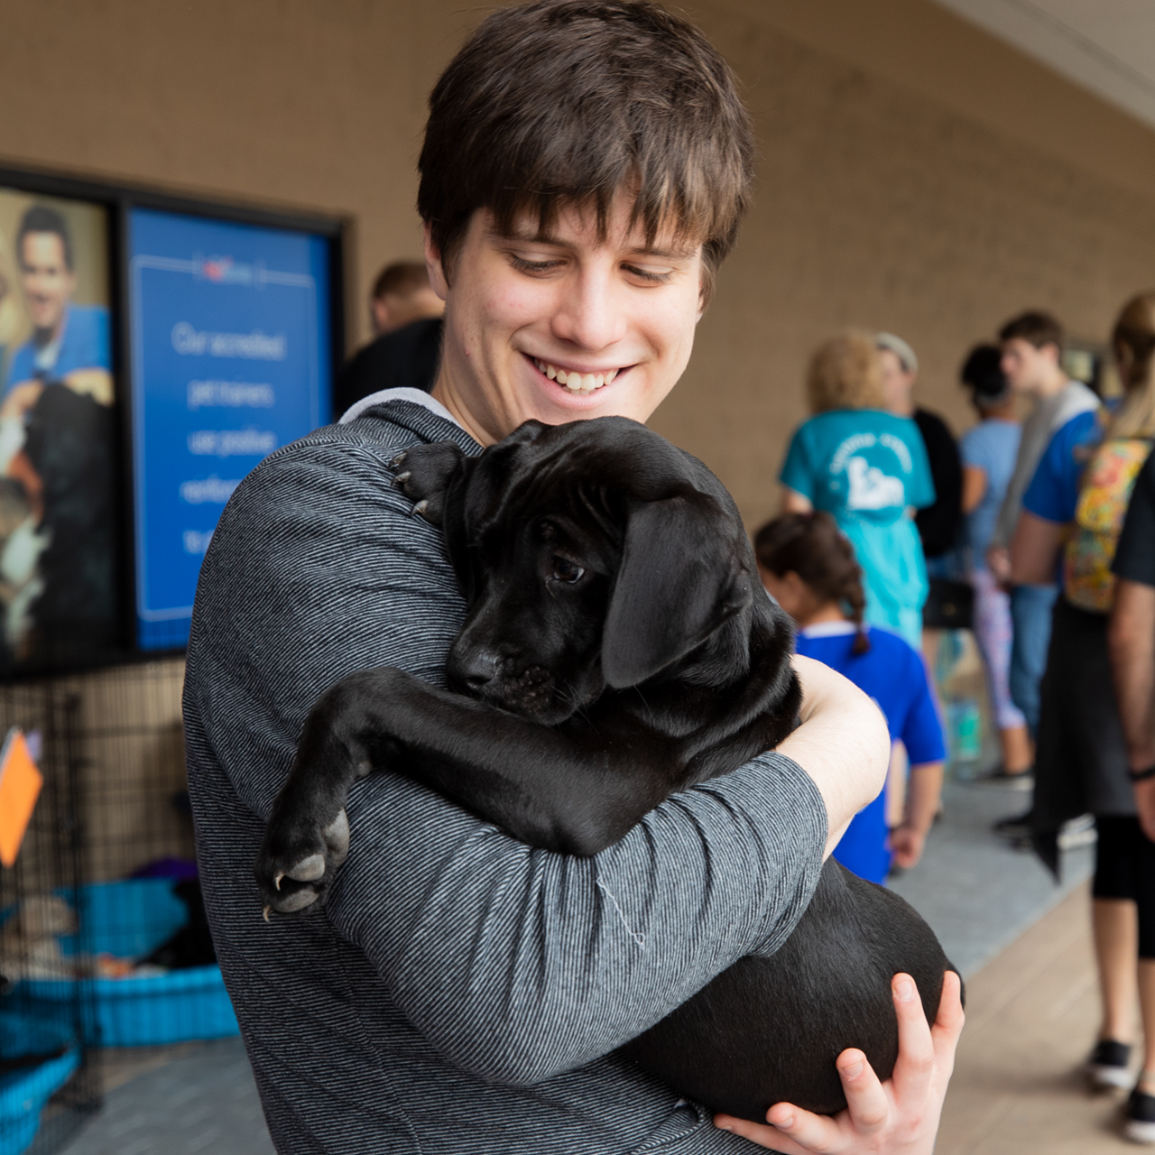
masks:
<instances>
[{"instance_id":1,"label":"smiling man in blue shirt pictured on the poster","mask_svg":"<svg viewBox=\"0 0 1155 1155\"><path fill-rule=\"evenodd\" d=\"M28 412L53 381L111 405L109 311L73 303L73 245L60 213L47 204L28 209L16 233L16 258L32 335L12 357L0 417Z\"/></svg>"}]
</instances>

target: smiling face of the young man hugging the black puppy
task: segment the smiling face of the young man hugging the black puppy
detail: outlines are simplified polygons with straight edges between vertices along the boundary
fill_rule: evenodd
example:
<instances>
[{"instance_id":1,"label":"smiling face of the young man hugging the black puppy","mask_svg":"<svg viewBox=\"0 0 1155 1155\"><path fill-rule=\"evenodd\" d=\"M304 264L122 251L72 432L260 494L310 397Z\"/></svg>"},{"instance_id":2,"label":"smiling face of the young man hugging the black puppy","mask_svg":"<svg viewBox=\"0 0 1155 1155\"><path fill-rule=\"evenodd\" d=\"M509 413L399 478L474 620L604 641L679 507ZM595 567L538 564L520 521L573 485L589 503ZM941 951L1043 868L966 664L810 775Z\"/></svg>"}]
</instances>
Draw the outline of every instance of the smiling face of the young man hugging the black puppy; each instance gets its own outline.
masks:
<instances>
[{"instance_id":1,"label":"smiling face of the young man hugging the black puppy","mask_svg":"<svg viewBox=\"0 0 1155 1155\"><path fill-rule=\"evenodd\" d=\"M573 208L547 236L527 218L512 237L478 209L452 285L426 243L446 300L434 396L483 444L530 418L644 422L681 377L701 314L701 246L672 236L647 246L629 207L614 202L604 240Z\"/></svg>"}]
</instances>

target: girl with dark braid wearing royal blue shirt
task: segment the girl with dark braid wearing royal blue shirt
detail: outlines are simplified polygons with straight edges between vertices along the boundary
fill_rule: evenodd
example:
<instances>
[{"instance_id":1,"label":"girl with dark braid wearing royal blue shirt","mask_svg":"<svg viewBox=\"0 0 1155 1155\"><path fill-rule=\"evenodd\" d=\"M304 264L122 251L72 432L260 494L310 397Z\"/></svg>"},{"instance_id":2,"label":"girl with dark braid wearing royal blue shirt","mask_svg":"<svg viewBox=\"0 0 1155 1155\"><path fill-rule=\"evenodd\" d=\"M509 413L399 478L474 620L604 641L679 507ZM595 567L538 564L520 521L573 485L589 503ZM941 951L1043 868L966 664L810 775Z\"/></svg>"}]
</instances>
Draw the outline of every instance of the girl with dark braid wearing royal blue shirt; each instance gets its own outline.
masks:
<instances>
[{"instance_id":1,"label":"girl with dark braid wearing royal blue shirt","mask_svg":"<svg viewBox=\"0 0 1155 1155\"><path fill-rule=\"evenodd\" d=\"M865 691L886 717L892 742L910 759L902 822L887 829L887 791L859 811L834 850L847 870L885 882L892 865L923 854L942 792L946 746L922 655L888 629L863 621L862 569L826 513L788 513L754 537L762 584L798 624L797 651Z\"/></svg>"}]
</instances>

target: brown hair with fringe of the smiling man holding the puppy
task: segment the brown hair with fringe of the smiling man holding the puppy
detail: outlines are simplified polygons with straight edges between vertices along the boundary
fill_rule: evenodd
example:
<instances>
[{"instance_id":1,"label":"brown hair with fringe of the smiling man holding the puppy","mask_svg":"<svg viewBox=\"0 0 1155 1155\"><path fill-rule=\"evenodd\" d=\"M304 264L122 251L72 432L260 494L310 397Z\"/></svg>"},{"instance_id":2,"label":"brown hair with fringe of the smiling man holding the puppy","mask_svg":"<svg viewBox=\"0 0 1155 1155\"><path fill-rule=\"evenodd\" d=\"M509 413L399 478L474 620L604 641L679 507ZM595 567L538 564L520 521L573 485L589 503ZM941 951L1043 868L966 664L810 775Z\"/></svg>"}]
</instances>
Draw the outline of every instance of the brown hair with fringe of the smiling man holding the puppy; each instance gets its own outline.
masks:
<instances>
[{"instance_id":1,"label":"brown hair with fringe of the smiling man holding the puppy","mask_svg":"<svg viewBox=\"0 0 1155 1155\"><path fill-rule=\"evenodd\" d=\"M633 198L646 243L702 244L703 293L750 199L753 133L725 61L648 0L534 0L492 13L430 96L417 209L441 254L476 209L511 231L529 213Z\"/></svg>"}]
</instances>

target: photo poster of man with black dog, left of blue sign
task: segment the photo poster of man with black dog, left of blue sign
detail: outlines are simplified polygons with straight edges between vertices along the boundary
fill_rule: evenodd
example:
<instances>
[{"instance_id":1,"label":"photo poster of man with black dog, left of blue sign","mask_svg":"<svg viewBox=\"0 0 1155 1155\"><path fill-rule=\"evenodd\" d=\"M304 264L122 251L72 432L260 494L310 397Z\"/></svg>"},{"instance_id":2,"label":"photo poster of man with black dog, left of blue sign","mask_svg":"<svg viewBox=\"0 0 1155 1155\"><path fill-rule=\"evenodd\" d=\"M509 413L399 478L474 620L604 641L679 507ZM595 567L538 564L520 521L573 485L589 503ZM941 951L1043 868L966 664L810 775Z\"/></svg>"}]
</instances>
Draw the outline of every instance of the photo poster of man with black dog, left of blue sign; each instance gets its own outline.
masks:
<instances>
[{"instance_id":1,"label":"photo poster of man with black dog, left of blue sign","mask_svg":"<svg viewBox=\"0 0 1155 1155\"><path fill-rule=\"evenodd\" d=\"M0 187L0 676L122 655L112 207Z\"/></svg>"}]
</instances>

